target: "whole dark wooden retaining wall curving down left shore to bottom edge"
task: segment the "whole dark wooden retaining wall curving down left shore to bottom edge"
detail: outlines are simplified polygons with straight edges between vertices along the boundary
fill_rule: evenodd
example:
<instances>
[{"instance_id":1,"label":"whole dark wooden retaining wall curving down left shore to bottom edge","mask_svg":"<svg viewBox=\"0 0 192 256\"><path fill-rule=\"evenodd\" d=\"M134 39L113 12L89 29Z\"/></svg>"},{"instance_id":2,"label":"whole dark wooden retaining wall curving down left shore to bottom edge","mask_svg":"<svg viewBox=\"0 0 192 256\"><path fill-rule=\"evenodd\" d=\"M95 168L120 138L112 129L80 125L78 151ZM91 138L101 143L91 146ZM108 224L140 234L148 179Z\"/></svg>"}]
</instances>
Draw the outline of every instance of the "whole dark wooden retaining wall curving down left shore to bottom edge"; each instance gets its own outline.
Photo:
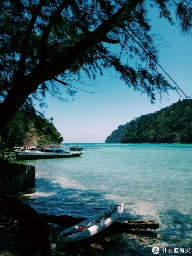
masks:
<instances>
[{"instance_id":1,"label":"whole dark wooden retaining wall curving down left shore to bottom edge","mask_svg":"<svg viewBox=\"0 0 192 256\"><path fill-rule=\"evenodd\" d=\"M35 167L26 164L5 164L3 171L3 175L11 176L9 179L0 180L0 213L19 221L21 230L26 235L28 247L33 248L36 255L55 255L55 250L52 254L49 227L41 214L14 196L35 185ZM17 175L13 175L14 173Z\"/></svg>"}]
</instances>

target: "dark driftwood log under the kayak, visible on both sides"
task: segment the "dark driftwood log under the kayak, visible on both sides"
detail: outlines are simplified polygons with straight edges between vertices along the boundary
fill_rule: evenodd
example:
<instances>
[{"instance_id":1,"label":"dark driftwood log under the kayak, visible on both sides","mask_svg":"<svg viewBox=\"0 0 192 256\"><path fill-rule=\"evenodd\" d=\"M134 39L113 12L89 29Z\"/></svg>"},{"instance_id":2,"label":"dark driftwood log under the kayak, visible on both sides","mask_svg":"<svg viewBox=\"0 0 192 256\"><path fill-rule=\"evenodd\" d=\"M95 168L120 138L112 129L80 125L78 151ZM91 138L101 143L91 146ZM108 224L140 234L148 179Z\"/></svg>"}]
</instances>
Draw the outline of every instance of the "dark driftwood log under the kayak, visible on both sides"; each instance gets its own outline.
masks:
<instances>
[{"instance_id":1,"label":"dark driftwood log under the kayak, visible on both sides","mask_svg":"<svg viewBox=\"0 0 192 256\"><path fill-rule=\"evenodd\" d=\"M42 217L46 222L60 224L67 227L76 225L77 223L85 220L85 218L75 218L68 215L55 216L55 215L42 214ZM124 223L115 221L113 224L111 224L111 227L116 229L122 229L122 232L123 232L124 229L148 229L148 228L157 229L159 228L159 223L154 222L152 220L150 221L132 220L132 221L125 221Z\"/></svg>"}]
</instances>

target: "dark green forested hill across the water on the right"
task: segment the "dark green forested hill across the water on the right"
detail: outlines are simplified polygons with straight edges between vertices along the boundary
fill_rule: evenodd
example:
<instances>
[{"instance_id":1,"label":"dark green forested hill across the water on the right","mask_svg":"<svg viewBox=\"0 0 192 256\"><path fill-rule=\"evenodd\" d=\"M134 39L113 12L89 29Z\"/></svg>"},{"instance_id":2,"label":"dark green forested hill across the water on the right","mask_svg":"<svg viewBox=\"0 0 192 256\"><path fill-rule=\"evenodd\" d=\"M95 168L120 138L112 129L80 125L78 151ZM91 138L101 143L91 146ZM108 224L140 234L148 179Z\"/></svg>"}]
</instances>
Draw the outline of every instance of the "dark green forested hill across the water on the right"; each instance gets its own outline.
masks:
<instances>
[{"instance_id":1,"label":"dark green forested hill across the water on the right","mask_svg":"<svg viewBox=\"0 0 192 256\"><path fill-rule=\"evenodd\" d=\"M105 142L192 143L192 99L173 103L119 127Z\"/></svg>"}]
</instances>

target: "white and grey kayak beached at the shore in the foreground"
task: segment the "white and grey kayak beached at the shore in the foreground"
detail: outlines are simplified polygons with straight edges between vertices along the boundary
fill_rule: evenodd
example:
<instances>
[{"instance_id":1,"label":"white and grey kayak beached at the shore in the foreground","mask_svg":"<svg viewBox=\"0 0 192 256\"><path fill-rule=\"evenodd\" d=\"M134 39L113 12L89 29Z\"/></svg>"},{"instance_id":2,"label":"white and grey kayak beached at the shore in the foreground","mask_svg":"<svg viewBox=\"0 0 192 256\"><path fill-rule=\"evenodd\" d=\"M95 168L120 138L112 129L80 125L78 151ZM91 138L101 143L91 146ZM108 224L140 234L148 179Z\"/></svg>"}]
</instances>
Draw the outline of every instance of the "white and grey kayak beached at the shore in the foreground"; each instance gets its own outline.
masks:
<instances>
[{"instance_id":1,"label":"white and grey kayak beached at the shore in the foreground","mask_svg":"<svg viewBox=\"0 0 192 256\"><path fill-rule=\"evenodd\" d=\"M56 250L60 250L68 243L79 241L97 234L119 218L123 210L124 203L122 202L64 230L57 237Z\"/></svg>"}]
</instances>

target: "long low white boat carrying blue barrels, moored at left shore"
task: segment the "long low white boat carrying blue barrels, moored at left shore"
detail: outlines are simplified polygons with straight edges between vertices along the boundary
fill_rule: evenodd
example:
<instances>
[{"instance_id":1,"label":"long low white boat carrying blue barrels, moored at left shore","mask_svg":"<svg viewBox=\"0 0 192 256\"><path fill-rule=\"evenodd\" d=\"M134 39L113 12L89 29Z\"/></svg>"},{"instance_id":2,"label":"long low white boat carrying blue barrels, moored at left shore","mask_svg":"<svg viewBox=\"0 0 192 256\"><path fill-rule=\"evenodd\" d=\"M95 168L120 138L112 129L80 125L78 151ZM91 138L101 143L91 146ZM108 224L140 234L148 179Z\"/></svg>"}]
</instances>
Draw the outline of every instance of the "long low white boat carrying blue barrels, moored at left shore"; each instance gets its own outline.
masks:
<instances>
[{"instance_id":1,"label":"long low white boat carrying blue barrels, moored at left shore","mask_svg":"<svg viewBox=\"0 0 192 256\"><path fill-rule=\"evenodd\" d=\"M32 149L26 150L21 148L21 151L16 154L17 160L31 159L48 159L48 158L67 158L81 156L84 152L70 152L62 149Z\"/></svg>"}]
</instances>

